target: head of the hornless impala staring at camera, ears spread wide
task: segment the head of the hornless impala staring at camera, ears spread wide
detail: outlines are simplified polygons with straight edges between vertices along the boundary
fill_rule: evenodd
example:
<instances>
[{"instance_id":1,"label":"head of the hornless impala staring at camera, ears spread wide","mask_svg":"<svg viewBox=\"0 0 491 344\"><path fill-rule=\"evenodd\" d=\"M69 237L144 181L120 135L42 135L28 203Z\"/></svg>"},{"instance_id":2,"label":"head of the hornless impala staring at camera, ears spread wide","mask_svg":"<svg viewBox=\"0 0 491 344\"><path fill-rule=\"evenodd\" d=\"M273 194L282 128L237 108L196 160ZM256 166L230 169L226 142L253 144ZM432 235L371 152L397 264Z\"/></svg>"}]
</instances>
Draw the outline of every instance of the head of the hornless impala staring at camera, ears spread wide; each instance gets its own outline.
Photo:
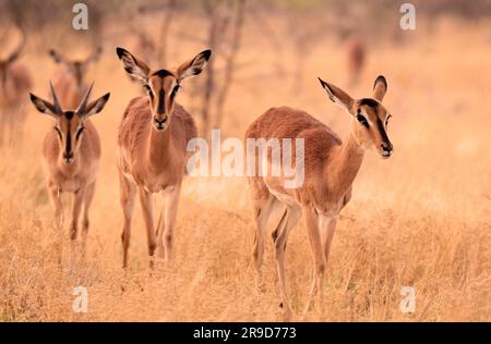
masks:
<instances>
[{"instance_id":1,"label":"head of the hornless impala staring at camera, ears spread wide","mask_svg":"<svg viewBox=\"0 0 491 344\"><path fill-rule=\"evenodd\" d=\"M117 48L116 52L127 73L140 79L146 89L152 108L153 127L157 131L164 131L171 121L176 95L181 87L181 82L200 74L212 56L211 50L205 50L176 70L152 71L145 62L129 51Z\"/></svg>"}]
</instances>

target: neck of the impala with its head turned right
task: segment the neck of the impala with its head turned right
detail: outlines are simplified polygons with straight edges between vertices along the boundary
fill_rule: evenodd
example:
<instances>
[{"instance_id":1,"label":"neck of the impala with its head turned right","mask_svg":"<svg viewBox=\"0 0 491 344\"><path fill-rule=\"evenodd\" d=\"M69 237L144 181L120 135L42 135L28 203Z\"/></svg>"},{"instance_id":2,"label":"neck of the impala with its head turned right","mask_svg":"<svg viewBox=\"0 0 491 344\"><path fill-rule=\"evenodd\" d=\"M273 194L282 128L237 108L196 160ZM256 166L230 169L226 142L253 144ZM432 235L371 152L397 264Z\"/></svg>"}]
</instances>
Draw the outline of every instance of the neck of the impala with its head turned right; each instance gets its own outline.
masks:
<instances>
[{"instance_id":1,"label":"neck of the impala with its head turned right","mask_svg":"<svg viewBox=\"0 0 491 344\"><path fill-rule=\"evenodd\" d=\"M364 149L358 145L352 133L339 146L328 162L327 180L331 181L332 192L342 197L351 186L363 161Z\"/></svg>"}]
</instances>

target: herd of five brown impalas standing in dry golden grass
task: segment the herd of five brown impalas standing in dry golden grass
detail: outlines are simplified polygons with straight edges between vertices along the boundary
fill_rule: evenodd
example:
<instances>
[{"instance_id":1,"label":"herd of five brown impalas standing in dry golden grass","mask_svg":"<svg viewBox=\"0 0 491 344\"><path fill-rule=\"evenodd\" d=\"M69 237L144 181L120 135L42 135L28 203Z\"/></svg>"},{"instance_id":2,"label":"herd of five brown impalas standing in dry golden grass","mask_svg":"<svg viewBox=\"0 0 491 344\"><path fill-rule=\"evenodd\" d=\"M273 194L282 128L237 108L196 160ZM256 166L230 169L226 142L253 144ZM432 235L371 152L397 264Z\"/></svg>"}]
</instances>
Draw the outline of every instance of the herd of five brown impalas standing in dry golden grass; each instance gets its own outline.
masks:
<instances>
[{"instance_id":1,"label":"herd of five brown impalas standing in dry golden grass","mask_svg":"<svg viewBox=\"0 0 491 344\"><path fill-rule=\"evenodd\" d=\"M13 122L9 118L27 99L32 85L26 69L16 63L25 46L25 34L21 32L21 36L15 50L7 59L0 60L2 131ZM187 144L197 135L192 115L176 102L176 97L185 78L203 71L212 52L205 50L175 70L152 69L123 48L117 48L116 52L124 71L133 79L141 82L146 90L146 96L130 100L118 133L117 162L123 213L122 265L124 268L128 266L131 220L137 196L146 228L149 265L153 267L156 253L166 262L172 257L177 208L189 158ZM60 195L72 193L74 201L70 236L71 239L76 238L79 218L83 210L82 230L85 242L101 150L91 116L103 111L109 94L89 101L93 87L87 85L84 75L89 64L100 57L101 49L83 61L71 61L55 50L50 50L49 54L62 67L53 77L53 83L49 83L52 100L48 101L33 94L29 97L37 111L49 115L53 122L53 127L46 133L41 151L48 192L55 207L56 225L58 229L63 226ZM393 149L386 133L391 114L382 105L387 89L383 76L376 77L372 97L361 99L351 98L339 87L323 79L320 83L327 97L351 119L349 135L345 142L309 113L288 107L267 110L251 123L244 137L304 139L303 185L285 188L282 176L249 177L255 224L253 260L258 292L262 290L261 266L268 218L274 209L282 211L272 236L285 320L292 316L285 281L285 249L291 229L303 216L314 258L313 280L307 304L307 309L310 309L315 297L321 298L322 305L324 273L337 217L351 198L352 182L364 151L373 149L383 158L388 158ZM266 155L265 161L266 164L272 164L271 155ZM161 193L164 196L164 207L156 228L152 209L154 193Z\"/></svg>"}]
</instances>

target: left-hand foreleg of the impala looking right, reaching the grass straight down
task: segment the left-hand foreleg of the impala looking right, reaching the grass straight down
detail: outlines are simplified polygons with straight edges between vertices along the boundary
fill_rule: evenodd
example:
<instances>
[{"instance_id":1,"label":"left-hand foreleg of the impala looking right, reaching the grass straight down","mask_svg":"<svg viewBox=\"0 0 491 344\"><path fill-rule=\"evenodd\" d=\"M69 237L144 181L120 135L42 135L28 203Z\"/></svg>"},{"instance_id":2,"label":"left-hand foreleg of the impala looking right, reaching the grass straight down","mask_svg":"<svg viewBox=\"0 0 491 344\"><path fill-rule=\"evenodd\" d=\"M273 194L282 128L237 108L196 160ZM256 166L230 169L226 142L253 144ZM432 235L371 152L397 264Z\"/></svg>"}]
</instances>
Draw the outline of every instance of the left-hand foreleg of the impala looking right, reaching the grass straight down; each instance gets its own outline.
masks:
<instances>
[{"instance_id":1,"label":"left-hand foreleg of the impala looking right, reaching the grass straight down","mask_svg":"<svg viewBox=\"0 0 491 344\"><path fill-rule=\"evenodd\" d=\"M326 268L326 260L324 254L324 245L322 243L321 231L319 228L319 216L311 207L303 207L303 214L306 217L307 233L309 234L310 245L312 247L314 258L314 271L312 278L312 286L310 290L309 300L307 303L306 312L309 311L313 304L314 298L319 293L320 306L323 306L323 288L324 288L324 274Z\"/></svg>"}]
</instances>

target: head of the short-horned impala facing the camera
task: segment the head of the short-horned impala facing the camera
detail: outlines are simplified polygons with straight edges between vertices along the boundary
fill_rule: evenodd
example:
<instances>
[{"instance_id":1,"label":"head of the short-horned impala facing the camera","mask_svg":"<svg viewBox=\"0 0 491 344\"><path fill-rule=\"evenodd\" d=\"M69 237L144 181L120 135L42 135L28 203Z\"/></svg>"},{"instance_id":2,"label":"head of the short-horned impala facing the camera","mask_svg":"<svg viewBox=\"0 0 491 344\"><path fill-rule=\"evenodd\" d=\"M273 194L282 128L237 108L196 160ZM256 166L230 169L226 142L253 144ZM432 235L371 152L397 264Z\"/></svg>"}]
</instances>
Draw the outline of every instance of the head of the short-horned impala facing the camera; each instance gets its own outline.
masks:
<instances>
[{"instance_id":1,"label":"head of the short-horned impala facing the camera","mask_svg":"<svg viewBox=\"0 0 491 344\"><path fill-rule=\"evenodd\" d=\"M64 111L50 83L52 102L31 94L31 101L37 111L48 114L56 120L53 130L57 132L62 162L71 164L76 160L80 145L84 135L84 123L92 115L103 111L109 99L109 94L88 102L92 86L86 91L76 110ZM88 103L87 103L88 102Z\"/></svg>"}]
</instances>

